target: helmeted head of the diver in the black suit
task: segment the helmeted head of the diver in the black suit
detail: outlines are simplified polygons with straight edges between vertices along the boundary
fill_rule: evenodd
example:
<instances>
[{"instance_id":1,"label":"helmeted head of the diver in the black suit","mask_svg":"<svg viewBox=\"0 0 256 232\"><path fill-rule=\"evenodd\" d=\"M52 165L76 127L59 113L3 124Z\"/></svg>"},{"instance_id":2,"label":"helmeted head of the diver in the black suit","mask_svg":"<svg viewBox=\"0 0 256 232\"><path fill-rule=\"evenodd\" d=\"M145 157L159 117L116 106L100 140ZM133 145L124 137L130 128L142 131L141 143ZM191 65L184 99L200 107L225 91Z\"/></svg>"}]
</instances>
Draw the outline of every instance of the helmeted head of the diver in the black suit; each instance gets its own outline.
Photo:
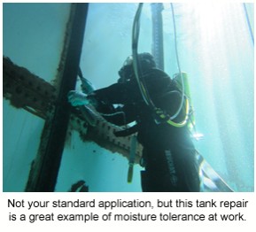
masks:
<instances>
[{"instance_id":1,"label":"helmeted head of the diver in the black suit","mask_svg":"<svg viewBox=\"0 0 256 232\"><path fill-rule=\"evenodd\" d=\"M123 66L120 68L120 79L118 80L119 83L130 81L135 77L133 62L134 58L132 56L128 56L123 63ZM138 62L143 73L156 67L156 62L153 56L148 52L138 54Z\"/></svg>"}]
</instances>

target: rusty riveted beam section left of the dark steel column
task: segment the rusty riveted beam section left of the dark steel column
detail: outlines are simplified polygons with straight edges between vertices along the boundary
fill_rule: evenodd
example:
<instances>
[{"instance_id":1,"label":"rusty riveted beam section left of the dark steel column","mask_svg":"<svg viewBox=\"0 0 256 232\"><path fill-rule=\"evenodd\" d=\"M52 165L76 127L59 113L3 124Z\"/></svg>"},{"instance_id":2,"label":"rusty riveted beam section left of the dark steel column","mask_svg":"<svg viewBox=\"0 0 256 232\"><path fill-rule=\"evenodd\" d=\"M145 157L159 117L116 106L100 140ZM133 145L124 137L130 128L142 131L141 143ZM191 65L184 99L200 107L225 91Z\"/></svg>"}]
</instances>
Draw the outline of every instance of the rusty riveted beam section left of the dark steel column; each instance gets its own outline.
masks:
<instances>
[{"instance_id":1,"label":"rusty riveted beam section left of the dark steel column","mask_svg":"<svg viewBox=\"0 0 256 232\"><path fill-rule=\"evenodd\" d=\"M24 108L45 119L56 89L47 81L3 58L3 94L16 108Z\"/></svg>"}]
</instances>

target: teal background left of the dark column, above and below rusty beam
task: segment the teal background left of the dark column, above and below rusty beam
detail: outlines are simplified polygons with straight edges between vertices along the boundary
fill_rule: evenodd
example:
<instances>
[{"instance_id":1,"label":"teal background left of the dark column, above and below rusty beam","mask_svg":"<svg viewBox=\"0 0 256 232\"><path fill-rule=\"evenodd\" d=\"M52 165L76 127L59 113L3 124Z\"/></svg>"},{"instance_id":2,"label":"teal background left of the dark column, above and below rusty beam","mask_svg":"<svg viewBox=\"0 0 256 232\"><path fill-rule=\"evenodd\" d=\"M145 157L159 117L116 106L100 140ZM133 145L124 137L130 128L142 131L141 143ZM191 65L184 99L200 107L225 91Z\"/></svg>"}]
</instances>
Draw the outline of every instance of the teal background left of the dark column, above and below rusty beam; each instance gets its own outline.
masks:
<instances>
[{"instance_id":1,"label":"teal background left of the dark column, above and below rusty beam","mask_svg":"<svg viewBox=\"0 0 256 232\"><path fill-rule=\"evenodd\" d=\"M3 4L3 53L45 81L54 80L70 4ZM44 120L3 102L3 190L24 191Z\"/></svg>"}]
</instances>

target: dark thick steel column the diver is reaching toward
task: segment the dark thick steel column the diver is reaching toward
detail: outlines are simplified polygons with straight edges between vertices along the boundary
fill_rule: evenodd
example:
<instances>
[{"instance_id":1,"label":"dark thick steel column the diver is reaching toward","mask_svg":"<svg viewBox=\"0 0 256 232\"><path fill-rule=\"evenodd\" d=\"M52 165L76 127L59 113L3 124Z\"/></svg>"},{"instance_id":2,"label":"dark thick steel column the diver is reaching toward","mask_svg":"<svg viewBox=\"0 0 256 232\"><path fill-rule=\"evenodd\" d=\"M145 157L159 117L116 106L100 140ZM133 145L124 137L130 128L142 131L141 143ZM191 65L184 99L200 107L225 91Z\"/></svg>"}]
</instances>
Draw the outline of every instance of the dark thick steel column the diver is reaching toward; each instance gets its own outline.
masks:
<instances>
[{"instance_id":1,"label":"dark thick steel column the diver is reaching toward","mask_svg":"<svg viewBox=\"0 0 256 232\"><path fill-rule=\"evenodd\" d=\"M75 88L89 4L72 4L70 25L63 50L63 69L59 76L58 97L43 128L41 144L32 163L26 191L54 191L66 139L71 106L66 95ZM54 51L53 51L54 52Z\"/></svg>"}]
</instances>

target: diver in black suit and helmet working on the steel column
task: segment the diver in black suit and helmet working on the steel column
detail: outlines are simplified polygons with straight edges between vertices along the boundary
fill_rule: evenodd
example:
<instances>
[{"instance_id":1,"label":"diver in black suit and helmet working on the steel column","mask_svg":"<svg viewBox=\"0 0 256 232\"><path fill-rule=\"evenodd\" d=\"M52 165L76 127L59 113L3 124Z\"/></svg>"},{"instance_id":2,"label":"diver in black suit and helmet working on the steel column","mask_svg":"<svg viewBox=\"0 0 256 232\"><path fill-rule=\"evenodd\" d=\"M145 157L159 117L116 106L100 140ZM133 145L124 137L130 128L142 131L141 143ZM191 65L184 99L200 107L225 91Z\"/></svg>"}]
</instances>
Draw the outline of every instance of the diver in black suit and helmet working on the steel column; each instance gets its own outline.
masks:
<instances>
[{"instance_id":1,"label":"diver in black suit and helmet working on the steel column","mask_svg":"<svg viewBox=\"0 0 256 232\"><path fill-rule=\"evenodd\" d=\"M133 66L134 58L129 56L120 68L120 78L114 84L97 89L85 95L72 90L68 101L73 105L89 104L92 101L104 104L121 104L116 113L105 115L106 120L123 126L136 122L134 126L116 132L116 136L137 133L137 140L143 145L141 183L144 192L197 192L200 189L196 149L187 126L175 127L163 115L174 115L182 101L182 92L175 79L156 67L150 53L138 54L145 88L154 110L145 104L139 89ZM184 107L182 107L184 108ZM97 109L100 112L100 109ZM118 113L120 112L120 113ZM184 118L180 111L174 121ZM124 117L125 115L125 117Z\"/></svg>"}]
</instances>

